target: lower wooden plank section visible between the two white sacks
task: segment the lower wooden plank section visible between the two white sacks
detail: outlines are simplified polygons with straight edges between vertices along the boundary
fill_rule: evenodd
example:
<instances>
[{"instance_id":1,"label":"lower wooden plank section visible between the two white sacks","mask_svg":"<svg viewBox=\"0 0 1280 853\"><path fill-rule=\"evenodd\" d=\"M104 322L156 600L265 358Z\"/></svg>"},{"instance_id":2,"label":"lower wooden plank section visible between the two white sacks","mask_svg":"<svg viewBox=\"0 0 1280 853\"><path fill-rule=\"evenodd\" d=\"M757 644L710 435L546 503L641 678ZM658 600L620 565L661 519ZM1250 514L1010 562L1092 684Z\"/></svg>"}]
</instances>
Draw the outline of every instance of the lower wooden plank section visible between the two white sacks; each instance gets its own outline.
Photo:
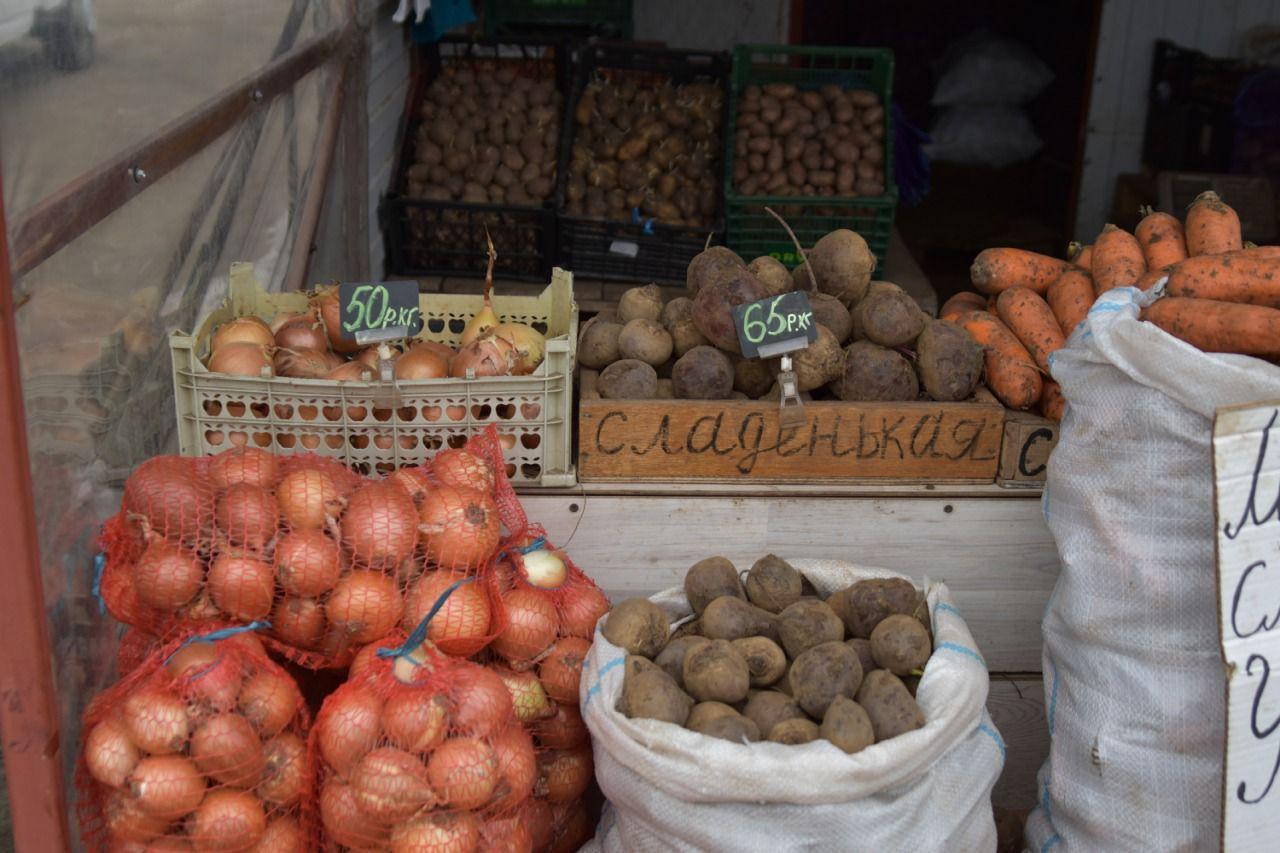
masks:
<instances>
[{"instance_id":1,"label":"lower wooden plank section visible between the two white sacks","mask_svg":"<svg viewBox=\"0 0 1280 853\"><path fill-rule=\"evenodd\" d=\"M1048 757L1044 684L1033 676L991 676L987 712L1005 740L1005 771L991 793L993 806L1036 806L1036 774Z\"/></svg>"}]
</instances>

